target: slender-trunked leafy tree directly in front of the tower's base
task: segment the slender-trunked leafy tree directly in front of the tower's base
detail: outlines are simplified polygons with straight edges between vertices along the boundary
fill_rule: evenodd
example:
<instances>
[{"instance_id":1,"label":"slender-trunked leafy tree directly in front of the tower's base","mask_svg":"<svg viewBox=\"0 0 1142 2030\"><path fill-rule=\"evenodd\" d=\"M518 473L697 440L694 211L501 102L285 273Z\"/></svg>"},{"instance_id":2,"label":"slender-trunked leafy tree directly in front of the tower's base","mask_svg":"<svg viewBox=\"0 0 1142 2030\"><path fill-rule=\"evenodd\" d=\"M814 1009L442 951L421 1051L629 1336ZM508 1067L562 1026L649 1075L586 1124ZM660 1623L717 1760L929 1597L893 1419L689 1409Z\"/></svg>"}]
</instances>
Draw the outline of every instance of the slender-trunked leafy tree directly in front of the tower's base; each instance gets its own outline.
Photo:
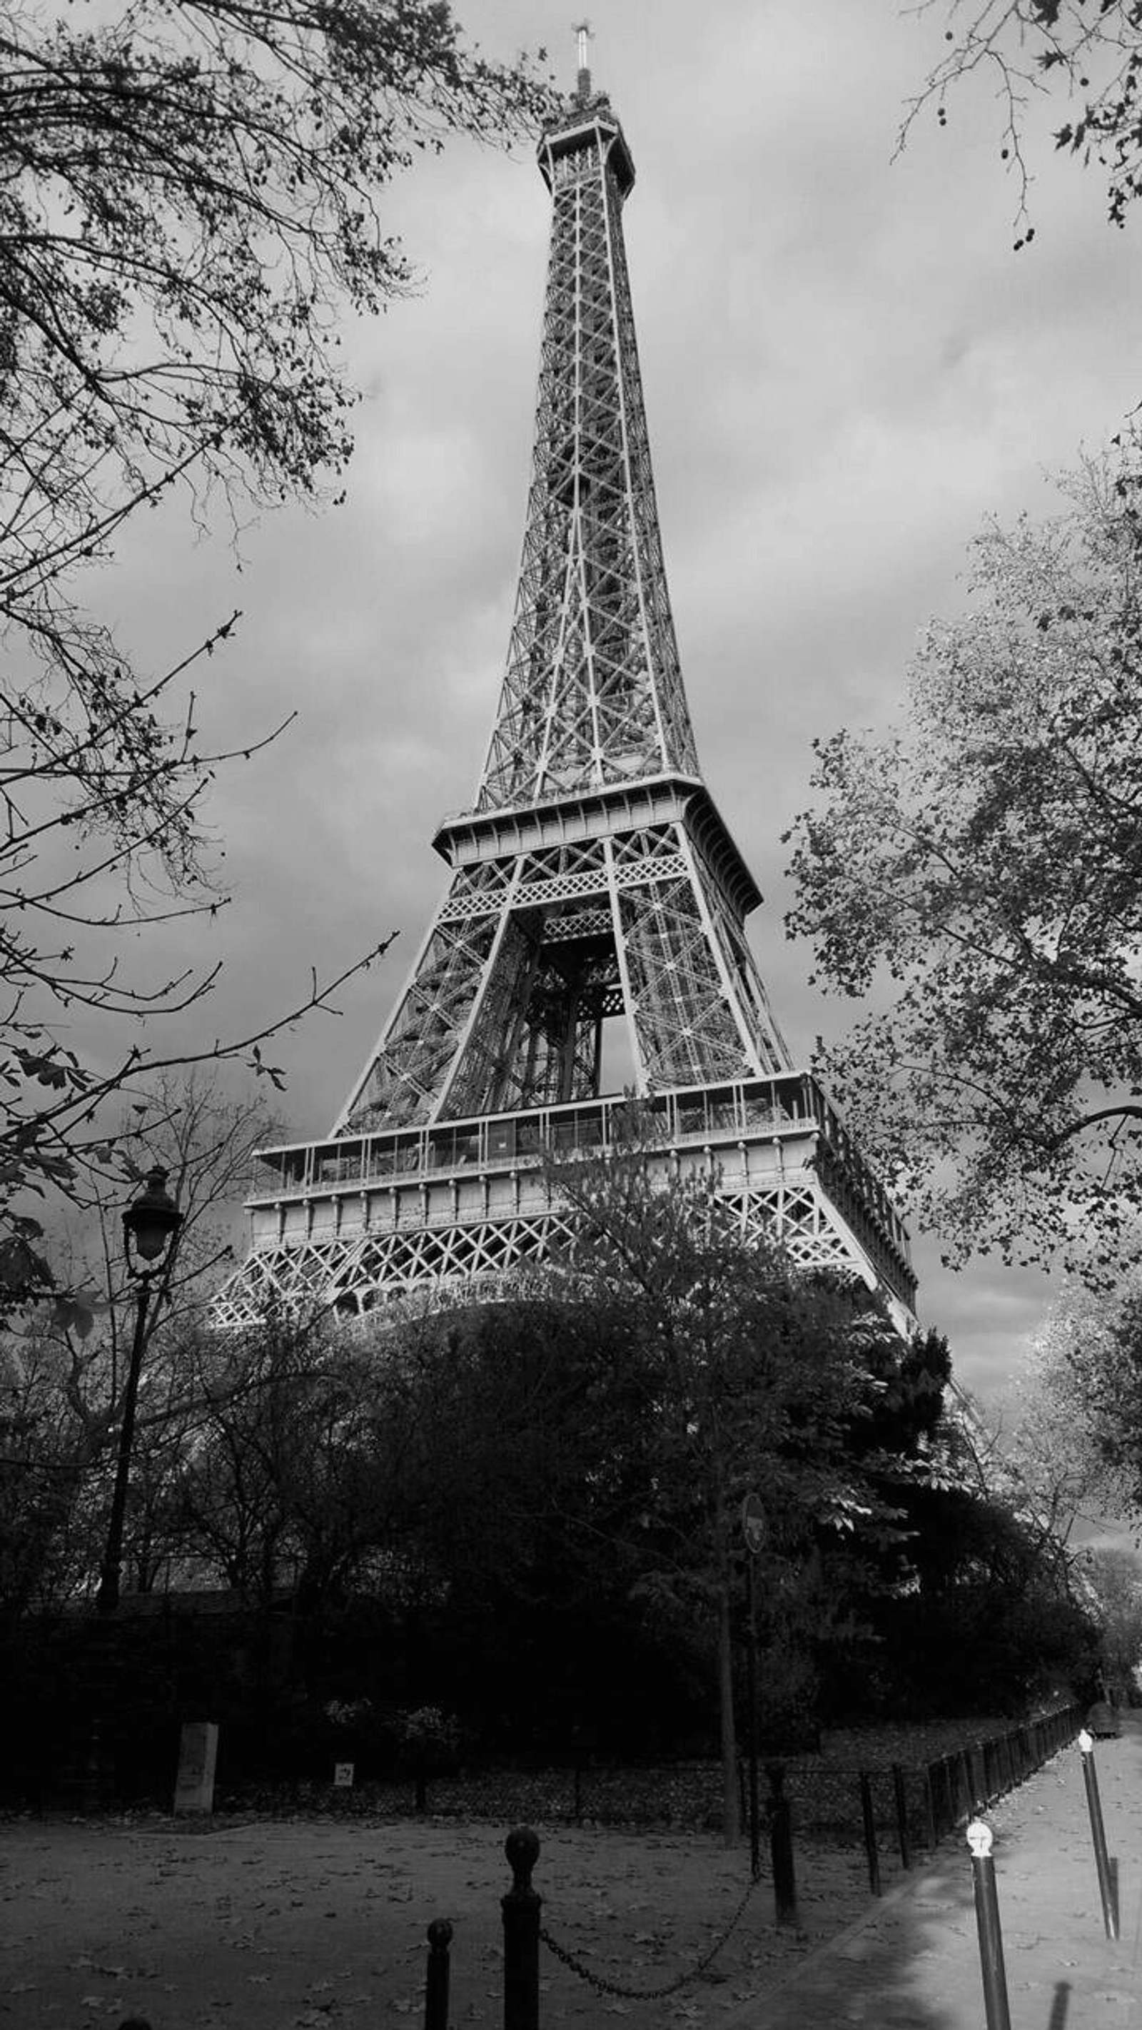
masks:
<instances>
[{"instance_id":1,"label":"slender-trunked leafy tree directly in front of the tower's base","mask_svg":"<svg viewBox=\"0 0 1142 2030\"><path fill-rule=\"evenodd\" d=\"M757 1492L769 1518L761 1592L789 1719L813 1707L813 1644L854 1632L834 1547L901 1535L893 1482L915 1470L915 1445L907 1460L858 1433L899 1380L905 1342L860 1281L807 1275L777 1242L746 1240L708 1173L663 1186L637 1131L625 1151L552 1165L552 1188L572 1214L568 1295L625 1322L641 1403L627 1443L645 1449L647 1488L637 1589L708 1632L732 1839L742 1498Z\"/></svg>"}]
</instances>

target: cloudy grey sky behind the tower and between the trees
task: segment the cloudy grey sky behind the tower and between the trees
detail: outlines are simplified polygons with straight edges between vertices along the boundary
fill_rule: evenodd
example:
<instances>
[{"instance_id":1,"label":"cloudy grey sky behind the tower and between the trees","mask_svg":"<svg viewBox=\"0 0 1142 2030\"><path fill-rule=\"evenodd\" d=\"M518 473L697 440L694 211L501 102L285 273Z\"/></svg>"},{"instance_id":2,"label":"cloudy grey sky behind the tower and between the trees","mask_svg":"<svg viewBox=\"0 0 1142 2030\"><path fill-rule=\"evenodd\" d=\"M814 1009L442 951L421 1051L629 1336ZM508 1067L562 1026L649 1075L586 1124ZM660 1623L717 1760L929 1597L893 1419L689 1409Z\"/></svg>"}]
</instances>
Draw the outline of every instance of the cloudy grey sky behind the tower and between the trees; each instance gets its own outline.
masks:
<instances>
[{"instance_id":1,"label":"cloudy grey sky behind the tower and between the trees","mask_svg":"<svg viewBox=\"0 0 1142 2030\"><path fill-rule=\"evenodd\" d=\"M570 10L469 0L489 53L546 43L574 81ZM886 727L919 631L963 597L990 514L1051 512L1049 475L1142 392L1138 227L1105 225L1095 171L1032 166L1034 246L980 81L893 162L941 53L943 6L895 0L596 0L592 67L637 166L627 250L667 579L708 786L765 893L751 932L797 1056L846 1009L783 934L781 832L813 737ZM548 195L533 160L471 142L391 191L424 288L347 333L365 392L349 501L239 540L174 516L136 530L99 605L166 662L243 609L201 723L292 731L223 773L211 806L235 901L183 938L225 960L211 1033L272 1019L310 964L400 938L276 1056L296 1139L329 1131L412 962L444 869L436 820L471 804L497 700L523 532ZM199 1017L199 1033L203 1019ZM939 1267L921 1313L986 1397L1049 1297L1030 1275Z\"/></svg>"}]
</instances>

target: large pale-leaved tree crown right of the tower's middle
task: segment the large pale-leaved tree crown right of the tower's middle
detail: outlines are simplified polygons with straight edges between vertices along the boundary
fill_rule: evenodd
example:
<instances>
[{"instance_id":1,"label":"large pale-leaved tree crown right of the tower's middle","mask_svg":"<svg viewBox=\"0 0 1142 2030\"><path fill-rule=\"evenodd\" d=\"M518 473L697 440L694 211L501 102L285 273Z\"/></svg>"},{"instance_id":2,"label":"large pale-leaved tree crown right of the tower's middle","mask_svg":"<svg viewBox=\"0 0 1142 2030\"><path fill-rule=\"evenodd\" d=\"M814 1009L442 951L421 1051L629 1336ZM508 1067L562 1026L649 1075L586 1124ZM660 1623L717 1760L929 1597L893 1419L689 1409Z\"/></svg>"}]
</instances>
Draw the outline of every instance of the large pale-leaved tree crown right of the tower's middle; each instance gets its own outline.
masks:
<instances>
[{"instance_id":1,"label":"large pale-leaved tree crown right of the tower's middle","mask_svg":"<svg viewBox=\"0 0 1142 2030\"><path fill-rule=\"evenodd\" d=\"M1136 471L990 526L890 739L819 743L793 828L817 974L874 993L824 1068L953 1259L1118 1265L1142 1192Z\"/></svg>"}]
</instances>

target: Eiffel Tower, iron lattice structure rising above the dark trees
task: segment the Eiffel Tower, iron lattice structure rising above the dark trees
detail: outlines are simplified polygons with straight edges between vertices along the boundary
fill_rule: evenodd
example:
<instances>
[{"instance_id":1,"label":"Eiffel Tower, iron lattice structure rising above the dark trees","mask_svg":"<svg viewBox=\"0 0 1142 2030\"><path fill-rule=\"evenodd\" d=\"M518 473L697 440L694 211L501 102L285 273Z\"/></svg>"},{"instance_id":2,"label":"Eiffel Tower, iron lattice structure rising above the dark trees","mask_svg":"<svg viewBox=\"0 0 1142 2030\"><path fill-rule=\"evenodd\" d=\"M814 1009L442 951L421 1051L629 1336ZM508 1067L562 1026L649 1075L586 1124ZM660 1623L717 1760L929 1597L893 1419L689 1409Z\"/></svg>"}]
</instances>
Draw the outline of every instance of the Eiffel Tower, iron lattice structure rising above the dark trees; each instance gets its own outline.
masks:
<instances>
[{"instance_id":1,"label":"Eiffel Tower, iron lattice structure rising above the dark trees","mask_svg":"<svg viewBox=\"0 0 1142 2030\"><path fill-rule=\"evenodd\" d=\"M606 1151L633 1090L663 1177L716 1175L742 1232L856 1271L907 1330L907 1232L789 1058L744 938L761 895L698 767L623 248L635 164L584 30L540 168L536 451L479 792L432 840L448 891L329 1139L260 1155L215 1315L519 1285L566 1234L544 1151Z\"/></svg>"}]
</instances>

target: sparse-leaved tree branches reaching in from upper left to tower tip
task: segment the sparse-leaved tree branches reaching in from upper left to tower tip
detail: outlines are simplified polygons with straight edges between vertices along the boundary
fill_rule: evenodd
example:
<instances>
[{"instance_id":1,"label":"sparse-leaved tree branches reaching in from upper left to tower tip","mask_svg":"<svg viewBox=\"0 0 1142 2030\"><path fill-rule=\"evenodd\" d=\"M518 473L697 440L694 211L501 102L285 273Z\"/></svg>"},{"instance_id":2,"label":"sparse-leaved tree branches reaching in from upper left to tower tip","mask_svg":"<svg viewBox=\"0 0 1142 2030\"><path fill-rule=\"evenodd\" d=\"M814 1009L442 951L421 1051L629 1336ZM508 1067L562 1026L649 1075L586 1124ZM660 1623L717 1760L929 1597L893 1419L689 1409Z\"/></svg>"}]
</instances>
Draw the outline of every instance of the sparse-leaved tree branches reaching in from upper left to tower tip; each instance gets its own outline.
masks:
<instances>
[{"instance_id":1,"label":"sparse-leaved tree branches reaching in from upper left to tower tip","mask_svg":"<svg viewBox=\"0 0 1142 2030\"><path fill-rule=\"evenodd\" d=\"M108 1100L162 1058L138 1019L213 985L132 972L128 938L225 899L203 798L235 757L203 745L187 682L237 615L134 670L83 572L176 493L201 526L329 497L351 449L339 325L416 284L389 179L448 134L533 132L548 93L523 59L469 49L442 0L2 0L0 71L0 1301L18 1301L51 1285L26 1194L83 1194ZM77 1015L130 1041L65 1047ZM262 1068L256 1043L201 1056Z\"/></svg>"}]
</instances>

